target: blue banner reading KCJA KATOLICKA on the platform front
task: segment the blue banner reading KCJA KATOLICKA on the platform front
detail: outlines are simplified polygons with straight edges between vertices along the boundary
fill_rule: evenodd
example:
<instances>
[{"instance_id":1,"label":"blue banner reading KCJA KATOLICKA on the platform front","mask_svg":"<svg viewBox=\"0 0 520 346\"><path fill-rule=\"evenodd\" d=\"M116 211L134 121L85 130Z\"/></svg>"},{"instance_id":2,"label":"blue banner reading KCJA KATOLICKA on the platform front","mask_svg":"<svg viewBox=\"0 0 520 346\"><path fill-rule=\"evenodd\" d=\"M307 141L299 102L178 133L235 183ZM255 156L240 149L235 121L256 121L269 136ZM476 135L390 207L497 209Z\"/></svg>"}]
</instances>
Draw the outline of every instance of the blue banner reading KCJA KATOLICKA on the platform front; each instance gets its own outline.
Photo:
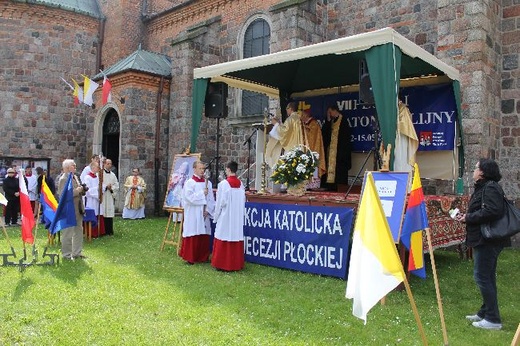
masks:
<instances>
[{"instance_id":1,"label":"blue banner reading KCJA KATOLICKA on the platform front","mask_svg":"<svg viewBox=\"0 0 520 346\"><path fill-rule=\"evenodd\" d=\"M246 203L248 262L345 279L353 209Z\"/></svg>"}]
</instances>

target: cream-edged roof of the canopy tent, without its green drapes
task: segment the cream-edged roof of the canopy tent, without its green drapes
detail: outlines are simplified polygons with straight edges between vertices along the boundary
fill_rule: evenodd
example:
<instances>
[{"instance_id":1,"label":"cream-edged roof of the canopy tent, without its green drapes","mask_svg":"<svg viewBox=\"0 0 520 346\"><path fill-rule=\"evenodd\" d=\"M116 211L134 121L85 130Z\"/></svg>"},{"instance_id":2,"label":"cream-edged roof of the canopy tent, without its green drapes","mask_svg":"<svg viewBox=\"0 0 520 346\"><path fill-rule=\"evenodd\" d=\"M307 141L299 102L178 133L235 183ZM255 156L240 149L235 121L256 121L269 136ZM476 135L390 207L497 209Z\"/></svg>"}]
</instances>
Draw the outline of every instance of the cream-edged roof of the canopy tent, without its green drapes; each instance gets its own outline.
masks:
<instances>
[{"instance_id":1,"label":"cream-edged roof of the canopy tent, without its green drapes","mask_svg":"<svg viewBox=\"0 0 520 346\"><path fill-rule=\"evenodd\" d=\"M359 61L373 46L394 43L403 53L400 78L459 72L392 28L317 43L273 54L194 69L194 78L211 78L229 86L278 97L279 92L304 92L359 83Z\"/></svg>"}]
</instances>

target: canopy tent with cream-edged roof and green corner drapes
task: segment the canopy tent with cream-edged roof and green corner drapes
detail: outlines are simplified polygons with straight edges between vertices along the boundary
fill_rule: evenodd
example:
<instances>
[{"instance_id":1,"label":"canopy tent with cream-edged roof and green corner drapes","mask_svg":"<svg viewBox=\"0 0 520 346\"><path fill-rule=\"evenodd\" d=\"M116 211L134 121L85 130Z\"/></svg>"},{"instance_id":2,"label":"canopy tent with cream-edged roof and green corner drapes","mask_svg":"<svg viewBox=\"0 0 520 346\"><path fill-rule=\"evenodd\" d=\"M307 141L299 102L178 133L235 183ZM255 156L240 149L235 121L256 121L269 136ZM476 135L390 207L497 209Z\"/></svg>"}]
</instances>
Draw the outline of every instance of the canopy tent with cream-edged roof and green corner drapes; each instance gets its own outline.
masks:
<instances>
[{"instance_id":1,"label":"canopy tent with cream-edged roof and green corner drapes","mask_svg":"<svg viewBox=\"0 0 520 346\"><path fill-rule=\"evenodd\" d=\"M457 143L459 177L462 176L459 72L391 28L194 69L191 148L196 148L205 90L210 80L280 98L285 103L295 93L358 84L357 67L363 59L370 71L385 146L391 143L395 147L398 91L402 79L445 76L451 81L460 137ZM390 168L393 168L393 158Z\"/></svg>"}]
</instances>

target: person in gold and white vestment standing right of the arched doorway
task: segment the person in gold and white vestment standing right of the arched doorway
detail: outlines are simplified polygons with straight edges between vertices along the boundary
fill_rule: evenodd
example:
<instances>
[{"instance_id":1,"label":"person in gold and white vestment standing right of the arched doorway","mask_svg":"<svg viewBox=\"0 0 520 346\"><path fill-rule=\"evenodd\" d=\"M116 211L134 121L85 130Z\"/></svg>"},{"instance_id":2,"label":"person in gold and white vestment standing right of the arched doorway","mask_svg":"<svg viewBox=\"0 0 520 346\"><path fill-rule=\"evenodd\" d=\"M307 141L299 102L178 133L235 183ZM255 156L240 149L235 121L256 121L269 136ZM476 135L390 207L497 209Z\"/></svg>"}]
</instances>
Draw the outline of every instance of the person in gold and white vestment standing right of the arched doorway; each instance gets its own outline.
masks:
<instances>
[{"instance_id":1,"label":"person in gold and white vestment standing right of the arched doorway","mask_svg":"<svg viewBox=\"0 0 520 346\"><path fill-rule=\"evenodd\" d=\"M132 169L132 175L126 178L124 191L123 219L144 219L146 182L141 177L139 168Z\"/></svg>"}]
</instances>

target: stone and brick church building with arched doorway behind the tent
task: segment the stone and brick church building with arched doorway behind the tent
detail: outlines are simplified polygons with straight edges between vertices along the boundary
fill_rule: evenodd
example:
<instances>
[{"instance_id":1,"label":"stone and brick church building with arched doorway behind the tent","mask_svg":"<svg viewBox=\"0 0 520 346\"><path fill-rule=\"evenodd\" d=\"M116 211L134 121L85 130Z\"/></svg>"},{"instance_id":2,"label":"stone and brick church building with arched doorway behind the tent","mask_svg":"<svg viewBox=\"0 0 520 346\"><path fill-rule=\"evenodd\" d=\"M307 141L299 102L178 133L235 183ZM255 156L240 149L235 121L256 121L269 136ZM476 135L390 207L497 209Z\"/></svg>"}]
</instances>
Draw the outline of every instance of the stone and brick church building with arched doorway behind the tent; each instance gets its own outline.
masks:
<instances>
[{"instance_id":1,"label":"stone and brick church building with arched doorway behind the tent","mask_svg":"<svg viewBox=\"0 0 520 346\"><path fill-rule=\"evenodd\" d=\"M174 155L190 144L194 68L385 27L460 71L465 186L477 158L492 157L506 193L520 195L514 1L2 0L0 23L0 164L44 162L57 174L65 158L81 168L102 152L121 183L141 169L150 214L162 209ZM92 107L75 106L62 78L102 83L100 70L111 102L98 90ZM244 168L251 125L276 101L230 88L226 103L218 156ZM216 124L203 117L200 126L206 162L217 156Z\"/></svg>"}]
</instances>

